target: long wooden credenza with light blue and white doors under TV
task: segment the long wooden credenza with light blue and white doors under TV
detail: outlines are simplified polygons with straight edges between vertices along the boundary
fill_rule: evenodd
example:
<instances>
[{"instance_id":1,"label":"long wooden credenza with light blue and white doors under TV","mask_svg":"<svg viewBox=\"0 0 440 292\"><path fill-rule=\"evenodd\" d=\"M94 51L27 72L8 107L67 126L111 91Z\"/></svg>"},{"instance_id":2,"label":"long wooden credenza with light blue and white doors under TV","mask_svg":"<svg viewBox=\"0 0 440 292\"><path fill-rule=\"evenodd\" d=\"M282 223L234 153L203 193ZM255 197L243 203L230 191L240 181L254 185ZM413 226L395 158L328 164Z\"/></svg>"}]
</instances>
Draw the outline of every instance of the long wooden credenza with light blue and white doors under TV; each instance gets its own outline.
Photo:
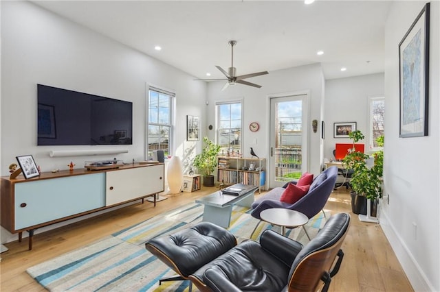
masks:
<instances>
[{"instance_id":1,"label":"long wooden credenza with light blue and white doors under TV","mask_svg":"<svg viewBox=\"0 0 440 292\"><path fill-rule=\"evenodd\" d=\"M1 177L1 226L11 233L87 215L164 191L164 164L121 165L102 171L41 173L25 180ZM156 205L154 199L154 205Z\"/></svg>"}]
</instances>

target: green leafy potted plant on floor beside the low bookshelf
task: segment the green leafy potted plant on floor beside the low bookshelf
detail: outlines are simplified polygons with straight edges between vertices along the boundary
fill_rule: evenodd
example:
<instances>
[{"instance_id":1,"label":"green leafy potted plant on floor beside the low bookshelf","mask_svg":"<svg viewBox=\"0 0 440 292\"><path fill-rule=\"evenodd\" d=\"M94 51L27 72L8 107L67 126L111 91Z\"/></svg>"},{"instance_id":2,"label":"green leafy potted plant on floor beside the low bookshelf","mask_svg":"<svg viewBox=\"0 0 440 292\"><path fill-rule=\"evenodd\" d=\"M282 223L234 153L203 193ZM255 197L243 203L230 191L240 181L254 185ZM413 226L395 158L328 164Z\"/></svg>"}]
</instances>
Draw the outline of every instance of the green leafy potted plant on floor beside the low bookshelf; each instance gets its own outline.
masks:
<instances>
[{"instance_id":1,"label":"green leafy potted plant on floor beside the low bookshelf","mask_svg":"<svg viewBox=\"0 0 440 292\"><path fill-rule=\"evenodd\" d=\"M210 141L208 137L203 138L205 147L201 154L197 154L192 162L199 173L203 175L203 186L214 186L214 172L217 167L217 154L220 151L220 145Z\"/></svg>"}]
</instances>

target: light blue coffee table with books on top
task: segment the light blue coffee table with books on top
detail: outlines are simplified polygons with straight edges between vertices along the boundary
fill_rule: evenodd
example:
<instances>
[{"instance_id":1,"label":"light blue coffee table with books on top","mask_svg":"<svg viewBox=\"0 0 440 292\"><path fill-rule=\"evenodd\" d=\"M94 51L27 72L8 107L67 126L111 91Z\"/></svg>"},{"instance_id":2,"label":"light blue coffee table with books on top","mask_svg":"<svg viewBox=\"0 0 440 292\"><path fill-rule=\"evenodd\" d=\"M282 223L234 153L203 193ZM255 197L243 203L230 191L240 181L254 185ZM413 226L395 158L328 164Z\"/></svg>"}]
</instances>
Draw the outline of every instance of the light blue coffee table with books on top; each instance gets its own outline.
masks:
<instances>
[{"instance_id":1,"label":"light blue coffee table with books on top","mask_svg":"<svg viewBox=\"0 0 440 292\"><path fill-rule=\"evenodd\" d=\"M206 197L201 197L195 202L203 204L203 221L209 221L218 226L228 228L231 220L232 206L239 205L250 207L254 202L254 193L258 186L246 184L234 184L236 188L245 188L242 195L226 195L217 191Z\"/></svg>"}]
</instances>

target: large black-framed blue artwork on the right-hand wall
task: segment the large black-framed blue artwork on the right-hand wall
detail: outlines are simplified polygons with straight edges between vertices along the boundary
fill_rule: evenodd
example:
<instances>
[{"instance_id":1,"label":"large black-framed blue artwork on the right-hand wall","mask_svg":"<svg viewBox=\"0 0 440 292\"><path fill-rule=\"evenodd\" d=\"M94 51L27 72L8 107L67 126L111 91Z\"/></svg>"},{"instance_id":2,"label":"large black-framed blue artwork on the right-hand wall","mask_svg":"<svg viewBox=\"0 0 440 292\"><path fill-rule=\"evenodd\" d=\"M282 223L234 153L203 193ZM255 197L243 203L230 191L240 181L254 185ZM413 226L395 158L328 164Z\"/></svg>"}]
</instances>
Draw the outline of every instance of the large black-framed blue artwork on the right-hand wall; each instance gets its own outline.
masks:
<instances>
[{"instance_id":1,"label":"large black-framed blue artwork on the right-hand wall","mask_svg":"<svg viewBox=\"0 0 440 292\"><path fill-rule=\"evenodd\" d=\"M428 136L430 3L399 43L399 137Z\"/></svg>"}]
</instances>

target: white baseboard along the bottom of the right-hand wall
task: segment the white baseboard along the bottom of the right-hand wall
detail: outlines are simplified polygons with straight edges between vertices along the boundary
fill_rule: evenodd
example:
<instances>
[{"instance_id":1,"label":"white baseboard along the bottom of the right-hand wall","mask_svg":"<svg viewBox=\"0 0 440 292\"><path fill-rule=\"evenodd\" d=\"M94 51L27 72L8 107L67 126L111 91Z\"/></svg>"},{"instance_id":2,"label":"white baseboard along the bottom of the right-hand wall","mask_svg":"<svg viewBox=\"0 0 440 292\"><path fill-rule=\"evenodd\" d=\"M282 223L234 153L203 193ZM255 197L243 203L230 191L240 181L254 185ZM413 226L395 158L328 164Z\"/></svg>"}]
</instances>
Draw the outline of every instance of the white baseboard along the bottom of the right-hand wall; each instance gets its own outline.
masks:
<instances>
[{"instance_id":1,"label":"white baseboard along the bottom of the right-hand wall","mask_svg":"<svg viewBox=\"0 0 440 292\"><path fill-rule=\"evenodd\" d=\"M435 291L425 273L423 273L420 268L419 263L417 263L417 260L412 256L410 250L404 241L402 241L399 234L395 232L393 223L389 220L384 209L382 209L380 215L380 226L382 227L382 230L384 230L386 239L390 242L402 269L404 269L406 277L408 277L408 280L412 285L412 289L414 289L414 291Z\"/></svg>"}]
</instances>

